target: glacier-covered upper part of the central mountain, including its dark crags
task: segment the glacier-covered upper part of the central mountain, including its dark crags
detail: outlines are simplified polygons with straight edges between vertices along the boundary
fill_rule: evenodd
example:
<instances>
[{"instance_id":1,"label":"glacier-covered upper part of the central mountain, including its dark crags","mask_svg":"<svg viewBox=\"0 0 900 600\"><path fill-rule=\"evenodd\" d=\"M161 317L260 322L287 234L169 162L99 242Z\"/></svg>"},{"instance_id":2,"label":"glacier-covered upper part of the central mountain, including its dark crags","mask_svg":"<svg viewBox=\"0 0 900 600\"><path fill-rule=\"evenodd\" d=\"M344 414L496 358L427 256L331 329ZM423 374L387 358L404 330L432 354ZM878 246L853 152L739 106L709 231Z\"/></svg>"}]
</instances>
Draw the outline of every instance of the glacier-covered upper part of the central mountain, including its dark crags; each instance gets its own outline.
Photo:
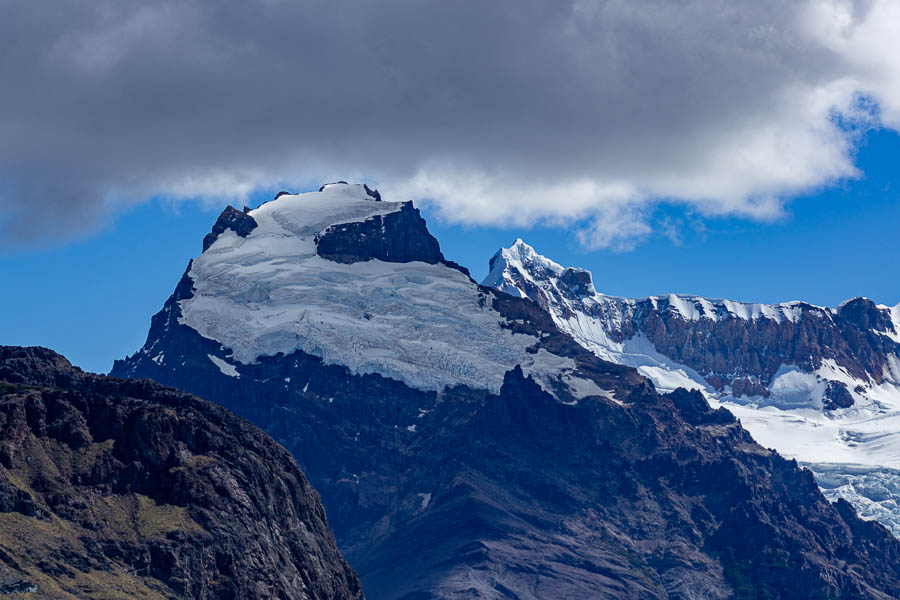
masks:
<instances>
[{"instance_id":1,"label":"glacier-covered upper part of the central mountain, including its dark crags","mask_svg":"<svg viewBox=\"0 0 900 600\"><path fill-rule=\"evenodd\" d=\"M445 260L412 203L383 201L365 185L226 209L204 247L139 352L158 366L178 352L157 343L169 337L163 330L185 326L217 343L203 356L235 379L245 365L300 351L421 390L498 392L520 366L565 402L608 393Z\"/></svg>"}]
</instances>

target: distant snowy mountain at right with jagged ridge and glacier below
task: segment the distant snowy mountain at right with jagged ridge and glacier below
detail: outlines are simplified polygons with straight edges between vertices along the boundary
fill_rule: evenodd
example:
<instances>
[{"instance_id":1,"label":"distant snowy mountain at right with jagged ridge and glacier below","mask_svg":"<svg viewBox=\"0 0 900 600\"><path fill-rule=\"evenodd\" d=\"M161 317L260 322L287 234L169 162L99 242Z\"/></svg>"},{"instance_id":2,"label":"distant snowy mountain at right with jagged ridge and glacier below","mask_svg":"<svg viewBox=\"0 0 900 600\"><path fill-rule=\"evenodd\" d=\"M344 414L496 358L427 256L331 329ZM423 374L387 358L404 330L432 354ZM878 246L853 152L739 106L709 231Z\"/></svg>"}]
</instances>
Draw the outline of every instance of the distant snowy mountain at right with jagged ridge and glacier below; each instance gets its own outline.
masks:
<instances>
[{"instance_id":1,"label":"distant snowy mountain at right with jagged ridge and glacier below","mask_svg":"<svg viewBox=\"0 0 900 600\"><path fill-rule=\"evenodd\" d=\"M900 305L618 298L522 240L491 259L483 283L538 302L584 347L659 390L701 390L761 444L809 464L829 494L900 533Z\"/></svg>"}]
</instances>

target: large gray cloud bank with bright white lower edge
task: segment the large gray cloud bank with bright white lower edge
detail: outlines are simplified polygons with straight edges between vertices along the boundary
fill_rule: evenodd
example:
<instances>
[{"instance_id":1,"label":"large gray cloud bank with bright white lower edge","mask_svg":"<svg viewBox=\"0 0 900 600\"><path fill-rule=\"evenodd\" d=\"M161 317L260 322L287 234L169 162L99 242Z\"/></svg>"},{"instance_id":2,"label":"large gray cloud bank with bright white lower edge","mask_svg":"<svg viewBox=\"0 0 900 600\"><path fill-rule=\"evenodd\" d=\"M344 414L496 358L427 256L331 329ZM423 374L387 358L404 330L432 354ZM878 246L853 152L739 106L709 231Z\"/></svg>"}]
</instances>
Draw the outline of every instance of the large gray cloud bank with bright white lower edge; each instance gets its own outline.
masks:
<instances>
[{"instance_id":1,"label":"large gray cloud bank with bright white lower edge","mask_svg":"<svg viewBox=\"0 0 900 600\"><path fill-rule=\"evenodd\" d=\"M362 178L471 224L775 218L900 128L894 0L0 0L0 239ZM585 225L586 223L586 225Z\"/></svg>"}]
</instances>

